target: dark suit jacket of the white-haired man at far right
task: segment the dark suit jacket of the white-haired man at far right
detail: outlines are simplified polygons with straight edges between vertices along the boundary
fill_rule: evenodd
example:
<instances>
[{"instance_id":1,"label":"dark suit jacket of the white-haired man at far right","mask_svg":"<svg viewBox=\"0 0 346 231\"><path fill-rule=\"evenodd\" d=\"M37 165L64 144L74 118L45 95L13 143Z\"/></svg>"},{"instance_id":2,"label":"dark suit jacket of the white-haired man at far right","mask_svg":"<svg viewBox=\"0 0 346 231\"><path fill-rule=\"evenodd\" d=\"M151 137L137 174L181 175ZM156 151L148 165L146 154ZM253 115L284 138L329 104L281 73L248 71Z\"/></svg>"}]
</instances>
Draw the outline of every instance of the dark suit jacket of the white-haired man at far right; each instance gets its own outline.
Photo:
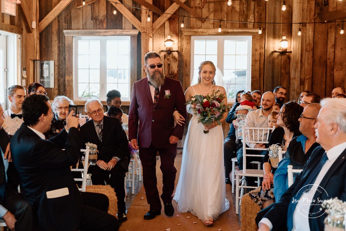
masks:
<instances>
[{"instance_id":1,"label":"dark suit jacket of the white-haired man at far right","mask_svg":"<svg viewBox=\"0 0 346 231\"><path fill-rule=\"evenodd\" d=\"M284 193L280 201L274 204L271 210L264 216L268 218L273 224L273 231L278 230L278 227L287 223L287 211L288 205L291 202L292 197L298 192L298 190L304 186L306 178L314 170L314 168L320 162L322 155L324 154L322 147L317 147L311 154L309 160L304 166L304 170L295 178L294 183ZM335 160L329 170L326 172L323 180L320 183L320 187L326 190L316 190L314 199L320 198L320 200L328 200L338 197L339 199L346 201L346 150ZM317 214L320 210L319 205L310 206L310 214ZM316 217L316 215L313 215ZM327 214L316 219L309 219L310 230L323 231L324 219Z\"/></svg>"}]
</instances>

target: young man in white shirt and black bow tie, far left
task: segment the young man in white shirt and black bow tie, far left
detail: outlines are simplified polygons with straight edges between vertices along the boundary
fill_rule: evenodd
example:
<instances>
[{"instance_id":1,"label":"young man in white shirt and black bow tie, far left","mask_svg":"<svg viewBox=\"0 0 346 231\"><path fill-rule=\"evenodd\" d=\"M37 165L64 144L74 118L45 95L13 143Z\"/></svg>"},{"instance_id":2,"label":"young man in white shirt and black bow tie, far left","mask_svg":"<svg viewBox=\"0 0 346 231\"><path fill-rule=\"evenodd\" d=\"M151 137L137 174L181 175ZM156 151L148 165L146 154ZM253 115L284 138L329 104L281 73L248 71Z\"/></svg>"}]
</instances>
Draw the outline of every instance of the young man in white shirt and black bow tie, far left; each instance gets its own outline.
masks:
<instances>
[{"instance_id":1,"label":"young man in white shirt and black bow tie, far left","mask_svg":"<svg viewBox=\"0 0 346 231\"><path fill-rule=\"evenodd\" d=\"M13 135L23 123L22 103L25 96L25 88L21 85L13 85L8 88L9 109L3 113L2 127L9 135Z\"/></svg>"}]
</instances>

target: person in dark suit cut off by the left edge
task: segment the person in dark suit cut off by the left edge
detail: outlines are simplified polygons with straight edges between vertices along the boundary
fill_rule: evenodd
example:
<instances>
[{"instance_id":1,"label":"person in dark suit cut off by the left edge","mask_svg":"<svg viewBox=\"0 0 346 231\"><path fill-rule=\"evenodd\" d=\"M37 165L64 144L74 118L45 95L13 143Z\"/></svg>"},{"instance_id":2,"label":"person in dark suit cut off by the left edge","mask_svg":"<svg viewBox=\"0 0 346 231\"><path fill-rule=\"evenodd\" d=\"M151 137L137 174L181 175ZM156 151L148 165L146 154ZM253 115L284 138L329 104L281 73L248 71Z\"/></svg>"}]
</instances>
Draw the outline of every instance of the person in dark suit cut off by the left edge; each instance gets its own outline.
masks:
<instances>
[{"instance_id":1,"label":"person in dark suit cut off by the left edge","mask_svg":"<svg viewBox=\"0 0 346 231\"><path fill-rule=\"evenodd\" d=\"M13 163L7 159L9 137L2 128L3 109L0 104L0 217L10 230L32 231L32 209L18 192L19 180ZM6 191L6 192L5 192Z\"/></svg>"}]
</instances>

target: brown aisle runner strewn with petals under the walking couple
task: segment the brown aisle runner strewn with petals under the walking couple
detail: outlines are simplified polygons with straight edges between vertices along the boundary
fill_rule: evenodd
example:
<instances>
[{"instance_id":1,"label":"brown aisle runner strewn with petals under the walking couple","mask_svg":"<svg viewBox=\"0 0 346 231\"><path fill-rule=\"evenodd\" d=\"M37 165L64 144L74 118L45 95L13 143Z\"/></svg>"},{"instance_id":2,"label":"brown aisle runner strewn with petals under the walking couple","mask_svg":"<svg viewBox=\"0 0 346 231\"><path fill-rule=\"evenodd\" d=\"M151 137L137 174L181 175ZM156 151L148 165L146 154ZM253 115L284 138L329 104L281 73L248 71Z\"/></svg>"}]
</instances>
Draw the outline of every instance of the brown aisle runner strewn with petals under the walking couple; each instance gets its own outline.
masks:
<instances>
[{"instance_id":1,"label":"brown aisle runner strewn with petals under the walking couple","mask_svg":"<svg viewBox=\"0 0 346 231\"><path fill-rule=\"evenodd\" d=\"M160 170L160 160L157 161L156 171L159 185L159 193L162 193L162 173ZM181 152L178 152L175 158L175 167L177 170L175 186L178 182L179 170L181 164ZM198 193L198 192L196 192ZM230 209L221 214L219 219L211 227L206 227L201 220L191 213L178 213L176 211L177 203L173 200L174 215L167 217L162 208L161 215L153 220L144 220L143 216L149 210L147 204L144 186L141 188L136 198L133 200L128 213L128 220L124 222L119 231L239 231L239 223L235 214L234 205L231 196L231 187L226 185L226 198L230 200ZM163 205L162 205L163 207Z\"/></svg>"}]
</instances>

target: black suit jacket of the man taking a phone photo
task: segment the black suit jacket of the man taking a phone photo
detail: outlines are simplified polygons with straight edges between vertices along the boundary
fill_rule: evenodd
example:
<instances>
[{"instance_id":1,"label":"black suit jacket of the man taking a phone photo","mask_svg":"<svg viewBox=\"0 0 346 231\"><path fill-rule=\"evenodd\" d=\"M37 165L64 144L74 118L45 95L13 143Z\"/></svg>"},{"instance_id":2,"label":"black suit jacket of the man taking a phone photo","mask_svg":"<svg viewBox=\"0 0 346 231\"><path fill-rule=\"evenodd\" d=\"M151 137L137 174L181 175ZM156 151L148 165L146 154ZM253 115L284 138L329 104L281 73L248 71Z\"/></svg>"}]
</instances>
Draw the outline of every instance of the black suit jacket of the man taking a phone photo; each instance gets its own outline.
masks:
<instances>
[{"instance_id":1,"label":"black suit jacket of the man taking a phone photo","mask_svg":"<svg viewBox=\"0 0 346 231\"><path fill-rule=\"evenodd\" d=\"M69 129L63 151L22 124L11 139L10 149L22 194L33 206L39 230L77 230L83 204L70 166L76 164L79 158L79 131ZM48 198L47 192L63 188L68 189L67 195Z\"/></svg>"}]
</instances>

